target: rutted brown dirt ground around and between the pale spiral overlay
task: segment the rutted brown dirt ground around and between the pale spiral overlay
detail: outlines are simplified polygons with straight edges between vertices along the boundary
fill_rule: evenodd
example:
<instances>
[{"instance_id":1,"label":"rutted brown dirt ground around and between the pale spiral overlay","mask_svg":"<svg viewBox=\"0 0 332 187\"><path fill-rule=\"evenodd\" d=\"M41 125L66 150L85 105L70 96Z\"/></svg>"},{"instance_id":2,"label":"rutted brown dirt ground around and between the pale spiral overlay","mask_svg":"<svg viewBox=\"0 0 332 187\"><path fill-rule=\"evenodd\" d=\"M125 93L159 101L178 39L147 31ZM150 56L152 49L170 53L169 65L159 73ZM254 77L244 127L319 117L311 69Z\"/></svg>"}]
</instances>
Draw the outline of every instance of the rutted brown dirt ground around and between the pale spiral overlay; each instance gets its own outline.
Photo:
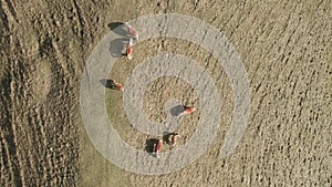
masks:
<instances>
[{"instance_id":1,"label":"rutted brown dirt ground around and between the pale spiral overlay","mask_svg":"<svg viewBox=\"0 0 332 187\"><path fill-rule=\"evenodd\" d=\"M1 0L0 186L331 186L331 0ZM198 46L172 39L135 45L135 61L124 65L121 59L110 77L124 82L136 64L164 51L211 64L206 67L224 93L226 115L209 150L181 170L145 176L115 167L91 144L80 116L86 59L110 23L153 13L181 13L212 24L242 59L251 113L241 142L226 159L218 153L234 108L227 75ZM170 83L174 87L160 86ZM153 82L144 100L151 120L165 117L160 108L148 108L167 95L194 100L195 94L180 90L188 86L172 79ZM116 110L106 104L118 134L143 148L146 136L127 124L122 95L106 91L106 98L118 101ZM179 131L189 138L193 128ZM135 135L138 141L131 139Z\"/></svg>"}]
</instances>

